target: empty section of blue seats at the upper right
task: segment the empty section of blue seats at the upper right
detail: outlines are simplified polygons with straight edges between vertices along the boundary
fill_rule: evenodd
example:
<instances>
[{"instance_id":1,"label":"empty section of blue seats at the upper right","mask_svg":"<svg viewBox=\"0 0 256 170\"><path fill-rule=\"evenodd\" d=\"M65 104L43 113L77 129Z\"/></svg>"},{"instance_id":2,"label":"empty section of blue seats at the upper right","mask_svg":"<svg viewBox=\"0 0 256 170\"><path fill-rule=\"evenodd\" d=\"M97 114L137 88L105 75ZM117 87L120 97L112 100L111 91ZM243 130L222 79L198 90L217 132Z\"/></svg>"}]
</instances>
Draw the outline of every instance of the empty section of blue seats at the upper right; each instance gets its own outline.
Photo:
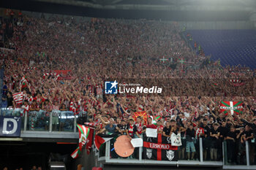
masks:
<instances>
[{"instance_id":1,"label":"empty section of blue seats at the upper right","mask_svg":"<svg viewBox=\"0 0 256 170\"><path fill-rule=\"evenodd\" d=\"M220 59L222 66L249 66L256 68L256 30L187 30L194 42L201 45L211 60Z\"/></svg>"}]
</instances>

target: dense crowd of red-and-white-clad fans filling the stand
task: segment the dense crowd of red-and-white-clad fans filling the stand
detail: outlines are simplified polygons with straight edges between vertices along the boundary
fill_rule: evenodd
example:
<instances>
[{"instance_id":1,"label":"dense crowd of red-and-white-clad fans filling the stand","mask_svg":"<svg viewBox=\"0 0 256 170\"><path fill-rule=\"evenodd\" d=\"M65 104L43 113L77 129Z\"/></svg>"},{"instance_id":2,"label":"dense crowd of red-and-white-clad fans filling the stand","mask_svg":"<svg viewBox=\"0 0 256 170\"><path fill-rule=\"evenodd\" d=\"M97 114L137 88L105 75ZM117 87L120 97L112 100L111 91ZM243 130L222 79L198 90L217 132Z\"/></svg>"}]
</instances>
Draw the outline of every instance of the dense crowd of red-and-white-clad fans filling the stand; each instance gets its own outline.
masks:
<instances>
[{"instance_id":1,"label":"dense crowd of red-and-white-clad fans filling the stand","mask_svg":"<svg viewBox=\"0 0 256 170\"><path fill-rule=\"evenodd\" d=\"M8 27L11 34L4 47L12 49L1 50L1 107L22 108L31 122L40 110L45 111L45 117L53 112L56 126L58 111L70 110L79 116L78 123L94 123L97 134L141 137L145 128L157 128L163 136L181 133L179 159L198 159L201 137L205 160L222 160L222 142L226 141L229 162L243 164L248 141L250 161L255 163L255 89L243 88L234 96L238 90L230 90L234 85L224 82L252 77L237 88L253 84L255 73L239 67L223 68L208 56L197 55L181 36L178 23L95 18L78 22L26 15L8 22L8 26L1 22L1 28L6 31ZM68 72L57 74L55 70ZM180 83L191 78L200 81ZM104 82L115 79L175 81L171 95L105 95ZM205 82L218 86L219 92L208 89L204 93ZM162 85L170 86L168 83ZM243 113L220 112L221 101L242 101ZM142 117L132 118L140 111L146 111L147 122Z\"/></svg>"}]
</instances>

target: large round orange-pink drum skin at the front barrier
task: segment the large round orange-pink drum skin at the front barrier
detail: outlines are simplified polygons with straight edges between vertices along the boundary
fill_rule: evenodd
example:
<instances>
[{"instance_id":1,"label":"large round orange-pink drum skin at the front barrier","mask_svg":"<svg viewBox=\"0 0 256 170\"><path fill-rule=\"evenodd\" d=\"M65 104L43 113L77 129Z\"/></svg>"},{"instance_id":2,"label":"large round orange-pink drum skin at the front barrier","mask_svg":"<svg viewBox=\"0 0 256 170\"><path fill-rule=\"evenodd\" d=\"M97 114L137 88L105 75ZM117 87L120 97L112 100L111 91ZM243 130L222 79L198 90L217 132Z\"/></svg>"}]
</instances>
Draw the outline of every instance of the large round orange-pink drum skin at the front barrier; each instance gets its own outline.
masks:
<instances>
[{"instance_id":1,"label":"large round orange-pink drum skin at the front barrier","mask_svg":"<svg viewBox=\"0 0 256 170\"><path fill-rule=\"evenodd\" d=\"M114 143L114 148L116 154L124 158L132 155L135 150L135 148L132 147L131 138L127 135L119 136Z\"/></svg>"}]
</instances>

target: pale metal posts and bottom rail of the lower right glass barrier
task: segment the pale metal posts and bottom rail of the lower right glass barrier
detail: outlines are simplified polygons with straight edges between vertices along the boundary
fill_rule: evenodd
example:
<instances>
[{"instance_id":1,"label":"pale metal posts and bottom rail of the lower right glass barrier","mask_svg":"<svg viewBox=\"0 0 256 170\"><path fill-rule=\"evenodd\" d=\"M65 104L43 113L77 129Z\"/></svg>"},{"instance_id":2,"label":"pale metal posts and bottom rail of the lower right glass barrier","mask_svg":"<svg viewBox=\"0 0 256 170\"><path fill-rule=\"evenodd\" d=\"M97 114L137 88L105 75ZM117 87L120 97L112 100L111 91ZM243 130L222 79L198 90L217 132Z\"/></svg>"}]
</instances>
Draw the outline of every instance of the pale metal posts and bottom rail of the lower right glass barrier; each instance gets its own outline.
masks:
<instances>
[{"instance_id":1,"label":"pale metal posts and bottom rail of the lower right glass barrier","mask_svg":"<svg viewBox=\"0 0 256 170\"><path fill-rule=\"evenodd\" d=\"M244 156L244 159L246 160L246 164L244 165L239 165L239 164L232 164L227 162L227 143L222 142L222 146L219 148L221 150L221 156L222 160L219 161L211 161L208 159L205 159L204 157L204 152L206 152L205 147L203 147L203 139L200 138L198 139L198 150L196 150L197 153L199 153L199 159L197 160L180 160L178 161L157 161L157 160L152 160L152 159L146 159L143 157L143 147L139 147L138 150L138 158L113 158L113 142L111 143L110 141L105 143L105 147L101 147L99 151L95 150L95 155L97 156L97 160L100 163L117 163L117 164L129 164L132 163L134 165L143 165L143 164L148 164L148 165L171 165L171 166L211 166L211 167L222 167L223 169L256 169L256 166L250 163L250 157L249 157L249 142L245 142L245 150L244 152L246 153ZM112 145L112 147L111 147ZM207 150L210 150L211 148L208 148ZM102 154L102 151L103 152ZM229 150L230 151L230 150ZM177 152L181 152L178 150ZM251 158L252 159L252 158Z\"/></svg>"}]
</instances>

